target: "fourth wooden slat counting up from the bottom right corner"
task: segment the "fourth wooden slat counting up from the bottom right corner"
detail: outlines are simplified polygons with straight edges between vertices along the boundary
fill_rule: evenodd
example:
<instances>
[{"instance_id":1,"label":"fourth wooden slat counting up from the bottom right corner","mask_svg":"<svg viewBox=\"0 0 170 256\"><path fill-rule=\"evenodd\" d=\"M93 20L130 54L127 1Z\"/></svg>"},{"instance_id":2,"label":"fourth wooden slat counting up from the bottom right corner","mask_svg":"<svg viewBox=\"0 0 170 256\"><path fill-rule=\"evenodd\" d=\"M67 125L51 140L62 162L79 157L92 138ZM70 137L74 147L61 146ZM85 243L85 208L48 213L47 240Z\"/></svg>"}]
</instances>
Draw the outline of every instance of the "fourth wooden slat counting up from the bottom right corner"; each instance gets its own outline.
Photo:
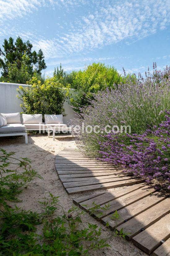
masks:
<instances>
[{"instance_id":1,"label":"fourth wooden slat counting up from the bottom right corner","mask_svg":"<svg viewBox=\"0 0 170 256\"><path fill-rule=\"evenodd\" d=\"M147 197L130 204L129 206L124 207L123 209L120 209L117 211L117 213L120 215L120 218L115 220L113 219L113 214L110 214L104 218L101 219L101 222L106 225L106 223L109 224L110 229L115 229L122 223L124 223L125 220L129 220L136 215L146 211L150 207L154 206L155 204L161 202L162 200L167 197L168 194L161 193L160 191L155 192L154 194L150 194Z\"/></svg>"}]
</instances>

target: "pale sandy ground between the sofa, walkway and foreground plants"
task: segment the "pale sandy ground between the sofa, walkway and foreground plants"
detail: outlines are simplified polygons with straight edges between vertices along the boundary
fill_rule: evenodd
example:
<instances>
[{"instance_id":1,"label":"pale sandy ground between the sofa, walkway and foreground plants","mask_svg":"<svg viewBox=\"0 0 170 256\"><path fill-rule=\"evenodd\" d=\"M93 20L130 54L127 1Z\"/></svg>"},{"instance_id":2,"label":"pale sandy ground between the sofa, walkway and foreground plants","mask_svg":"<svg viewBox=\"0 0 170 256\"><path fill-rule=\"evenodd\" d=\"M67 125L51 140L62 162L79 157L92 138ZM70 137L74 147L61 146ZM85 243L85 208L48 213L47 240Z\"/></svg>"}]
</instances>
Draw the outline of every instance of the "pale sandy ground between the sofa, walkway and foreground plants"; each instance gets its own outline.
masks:
<instances>
[{"instance_id":1,"label":"pale sandy ground between the sofa, walkway and foreground plants","mask_svg":"<svg viewBox=\"0 0 170 256\"><path fill-rule=\"evenodd\" d=\"M36 169L38 173L43 177L43 180L36 179L31 185L24 189L19 198L22 200L21 203L17 203L17 206L22 207L26 210L38 211L40 205L37 201L48 192L53 193L55 196L60 197L60 204L65 210L70 209L74 206L72 199L90 195L94 193L101 193L102 191L95 191L83 194L68 195L64 190L61 182L59 181L58 175L54 166L54 158L60 150L64 148L76 148L76 143L71 135L57 135L55 141L52 137L48 138L46 134L39 135L28 135L28 144L25 144L24 137L1 137L0 148L7 150L8 152L16 152L16 157L28 157L31 159L32 168ZM119 189L119 188L118 188ZM111 191L113 189L107 189ZM106 191L106 190L103 190ZM82 217L83 224L85 223L96 223L99 227L102 227L102 237L109 237L111 231L104 227L100 222L96 221L93 217L85 214ZM140 249L135 247L132 242L128 242L123 238L111 237L108 240L111 245L109 248L103 248L99 251L92 252L91 255L105 255L105 256L137 256L146 255Z\"/></svg>"}]
</instances>

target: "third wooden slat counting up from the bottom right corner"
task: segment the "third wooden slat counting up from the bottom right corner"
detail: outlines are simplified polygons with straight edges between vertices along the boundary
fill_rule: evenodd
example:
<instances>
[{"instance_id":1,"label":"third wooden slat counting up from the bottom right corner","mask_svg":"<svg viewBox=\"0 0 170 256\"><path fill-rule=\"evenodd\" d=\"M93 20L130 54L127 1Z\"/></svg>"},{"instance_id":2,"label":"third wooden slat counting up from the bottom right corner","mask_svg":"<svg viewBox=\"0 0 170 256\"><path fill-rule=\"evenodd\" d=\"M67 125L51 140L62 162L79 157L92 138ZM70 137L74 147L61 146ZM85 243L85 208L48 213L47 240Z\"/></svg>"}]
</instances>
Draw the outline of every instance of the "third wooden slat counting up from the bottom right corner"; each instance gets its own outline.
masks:
<instances>
[{"instance_id":1,"label":"third wooden slat counting up from the bottom right corner","mask_svg":"<svg viewBox=\"0 0 170 256\"><path fill-rule=\"evenodd\" d=\"M170 213L170 198L166 198L159 204L120 225L117 230L120 231L123 228L124 233L130 233L126 236L127 240L131 240L133 236L140 233L141 228L146 229L168 213Z\"/></svg>"}]
</instances>

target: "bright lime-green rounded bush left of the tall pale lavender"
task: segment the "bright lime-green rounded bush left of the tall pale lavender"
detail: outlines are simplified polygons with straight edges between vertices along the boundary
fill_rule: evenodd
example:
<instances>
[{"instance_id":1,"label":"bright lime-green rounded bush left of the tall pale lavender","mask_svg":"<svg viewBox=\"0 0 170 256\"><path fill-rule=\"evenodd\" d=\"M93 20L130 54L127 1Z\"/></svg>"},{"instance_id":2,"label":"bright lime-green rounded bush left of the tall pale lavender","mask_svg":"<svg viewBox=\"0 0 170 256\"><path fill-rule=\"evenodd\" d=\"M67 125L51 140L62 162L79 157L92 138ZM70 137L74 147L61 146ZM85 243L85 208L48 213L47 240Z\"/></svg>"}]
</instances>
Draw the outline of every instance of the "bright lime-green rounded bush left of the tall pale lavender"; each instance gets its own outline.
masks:
<instances>
[{"instance_id":1,"label":"bright lime-green rounded bush left of the tall pale lavender","mask_svg":"<svg viewBox=\"0 0 170 256\"><path fill-rule=\"evenodd\" d=\"M80 107L89 105L88 99L93 99L93 93L104 91L107 87L116 88L121 82L123 78L114 67L93 63L84 71L77 72L71 83L71 88L77 90L76 95L71 95L72 106L80 112Z\"/></svg>"}]
</instances>

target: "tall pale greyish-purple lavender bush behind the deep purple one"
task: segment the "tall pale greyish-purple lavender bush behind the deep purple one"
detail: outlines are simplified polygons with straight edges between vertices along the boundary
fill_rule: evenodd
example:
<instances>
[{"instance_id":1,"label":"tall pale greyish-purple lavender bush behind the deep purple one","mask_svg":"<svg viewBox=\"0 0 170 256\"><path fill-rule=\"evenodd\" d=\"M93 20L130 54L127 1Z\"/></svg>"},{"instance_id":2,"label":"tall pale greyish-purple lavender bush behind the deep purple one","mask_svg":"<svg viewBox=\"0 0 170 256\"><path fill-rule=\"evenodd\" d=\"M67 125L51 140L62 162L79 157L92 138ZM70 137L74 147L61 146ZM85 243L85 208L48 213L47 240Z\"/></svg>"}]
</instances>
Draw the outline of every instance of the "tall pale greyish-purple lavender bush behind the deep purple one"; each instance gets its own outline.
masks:
<instances>
[{"instance_id":1,"label":"tall pale greyish-purple lavender bush behind the deep purple one","mask_svg":"<svg viewBox=\"0 0 170 256\"><path fill-rule=\"evenodd\" d=\"M117 89L107 89L94 95L90 106L81 108L80 119L73 122L82 127L87 125L100 126L99 133L80 132L76 136L76 143L80 150L87 154L98 155L99 142L104 142L104 127L110 125L130 125L131 132L142 134L146 129L158 126L164 121L164 110L170 109L170 67L162 72L148 71L143 79L129 76L125 84ZM122 135L117 136L117 141Z\"/></svg>"}]
</instances>

